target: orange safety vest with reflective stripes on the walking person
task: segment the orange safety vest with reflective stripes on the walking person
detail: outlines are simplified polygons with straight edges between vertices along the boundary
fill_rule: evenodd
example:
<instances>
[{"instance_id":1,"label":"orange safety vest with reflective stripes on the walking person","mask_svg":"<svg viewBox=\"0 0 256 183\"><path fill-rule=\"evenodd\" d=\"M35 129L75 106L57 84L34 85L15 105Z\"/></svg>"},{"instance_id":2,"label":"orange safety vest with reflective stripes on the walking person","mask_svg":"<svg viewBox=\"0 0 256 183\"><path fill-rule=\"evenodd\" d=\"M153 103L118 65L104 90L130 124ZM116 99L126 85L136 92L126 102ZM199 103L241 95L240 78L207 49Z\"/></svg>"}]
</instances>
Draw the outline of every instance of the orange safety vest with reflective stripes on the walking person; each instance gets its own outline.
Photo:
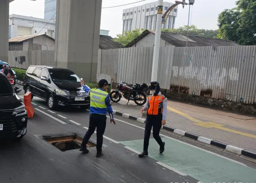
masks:
<instances>
[{"instance_id":1,"label":"orange safety vest with reflective stripes on the walking person","mask_svg":"<svg viewBox=\"0 0 256 183\"><path fill-rule=\"evenodd\" d=\"M164 99L165 99L165 96L163 96L163 95L149 96L148 97L149 108L148 108L147 113L149 115L162 114Z\"/></svg>"}]
</instances>

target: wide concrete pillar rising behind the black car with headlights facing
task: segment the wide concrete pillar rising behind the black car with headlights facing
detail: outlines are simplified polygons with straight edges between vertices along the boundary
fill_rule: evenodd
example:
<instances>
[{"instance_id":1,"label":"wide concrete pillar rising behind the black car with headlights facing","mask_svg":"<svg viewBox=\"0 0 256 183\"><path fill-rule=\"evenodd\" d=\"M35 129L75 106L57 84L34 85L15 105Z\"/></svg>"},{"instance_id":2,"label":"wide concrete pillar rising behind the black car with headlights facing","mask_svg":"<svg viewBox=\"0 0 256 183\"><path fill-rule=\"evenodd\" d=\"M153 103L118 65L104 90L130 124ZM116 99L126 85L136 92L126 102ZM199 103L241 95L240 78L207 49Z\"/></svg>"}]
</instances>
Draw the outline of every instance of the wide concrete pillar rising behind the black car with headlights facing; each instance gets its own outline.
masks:
<instances>
[{"instance_id":1,"label":"wide concrete pillar rising behind the black car with headlights facing","mask_svg":"<svg viewBox=\"0 0 256 183\"><path fill-rule=\"evenodd\" d=\"M54 64L96 81L102 0L57 0Z\"/></svg>"}]
</instances>

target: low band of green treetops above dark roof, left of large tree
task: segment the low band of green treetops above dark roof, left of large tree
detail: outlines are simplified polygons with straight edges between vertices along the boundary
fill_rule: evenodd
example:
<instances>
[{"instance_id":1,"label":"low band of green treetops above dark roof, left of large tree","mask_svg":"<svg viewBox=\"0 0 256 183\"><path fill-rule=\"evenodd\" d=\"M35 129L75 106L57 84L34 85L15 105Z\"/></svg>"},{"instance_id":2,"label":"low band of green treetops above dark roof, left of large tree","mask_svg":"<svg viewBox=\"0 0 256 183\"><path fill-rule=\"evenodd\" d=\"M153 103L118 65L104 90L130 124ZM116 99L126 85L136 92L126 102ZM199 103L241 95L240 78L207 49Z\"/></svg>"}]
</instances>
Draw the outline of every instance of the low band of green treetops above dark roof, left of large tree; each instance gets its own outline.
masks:
<instances>
[{"instance_id":1,"label":"low band of green treetops above dark roof, left of large tree","mask_svg":"<svg viewBox=\"0 0 256 183\"><path fill-rule=\"evenodd\" d=\"M198 29L195 25L191 26L183 26L179 27L177 29L162 29L162 32L171 32L176 34L182 34L182 35L188 35L191 36L202 36L206 38L216 38L218 35L218 30L205 30L205 29Z\"/></svg>"}]
</instances>

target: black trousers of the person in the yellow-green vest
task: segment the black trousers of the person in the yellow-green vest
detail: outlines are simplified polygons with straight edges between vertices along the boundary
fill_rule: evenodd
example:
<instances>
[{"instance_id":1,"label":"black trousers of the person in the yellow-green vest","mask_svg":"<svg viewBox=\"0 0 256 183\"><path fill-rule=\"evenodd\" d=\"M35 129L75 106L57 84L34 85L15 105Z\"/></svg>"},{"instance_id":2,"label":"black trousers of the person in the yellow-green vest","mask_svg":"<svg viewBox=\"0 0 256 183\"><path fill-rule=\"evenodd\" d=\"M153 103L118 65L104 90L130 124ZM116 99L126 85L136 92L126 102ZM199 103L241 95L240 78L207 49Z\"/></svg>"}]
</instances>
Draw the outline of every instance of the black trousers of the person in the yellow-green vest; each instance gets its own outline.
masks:
<instances>
[{"instance_id":1,"label":"black trousers of the person in the yellow-green vest","mask_svg":"<svg viewBox=\"0 0 256 183\"><path fill-rule=\"evenodd\" d=\"M103 134L106 129L107 123L107 116L102 114L90 114L89 120L89 128L86 132L83 142L81 144L82 147L86 147L91 135L94 133L95 129L97 128L97 153L102 152L102 143L103 143Z\"/></svg>"}]
</instances>

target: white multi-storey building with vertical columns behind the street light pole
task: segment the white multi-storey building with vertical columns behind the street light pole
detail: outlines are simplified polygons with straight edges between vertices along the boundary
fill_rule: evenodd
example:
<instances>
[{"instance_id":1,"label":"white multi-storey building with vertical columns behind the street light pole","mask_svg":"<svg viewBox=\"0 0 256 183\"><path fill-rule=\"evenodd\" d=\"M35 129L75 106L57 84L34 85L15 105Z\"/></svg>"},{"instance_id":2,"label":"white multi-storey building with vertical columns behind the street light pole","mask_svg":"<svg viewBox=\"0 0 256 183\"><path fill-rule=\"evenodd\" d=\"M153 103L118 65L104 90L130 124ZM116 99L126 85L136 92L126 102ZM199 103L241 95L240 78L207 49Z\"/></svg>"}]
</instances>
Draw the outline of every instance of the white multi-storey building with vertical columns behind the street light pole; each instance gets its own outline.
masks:
<instances>
[{"instance_id":1,"label":"white multi-storey building with vertical columns behind the street light pole","mask_svg":"<svg viewBox=\"0 0 256 183\"><path fill-rule=\"evenodd\" d=\"M164 2L163 14L171 5L173 3ZM157 6L158 1L123 10L123 32L136 30L137 28L155 30ZM162 28L174 28L176 16L177 6L171 11L166 23L162 24Z\"/></svg>"}]
</instances>

